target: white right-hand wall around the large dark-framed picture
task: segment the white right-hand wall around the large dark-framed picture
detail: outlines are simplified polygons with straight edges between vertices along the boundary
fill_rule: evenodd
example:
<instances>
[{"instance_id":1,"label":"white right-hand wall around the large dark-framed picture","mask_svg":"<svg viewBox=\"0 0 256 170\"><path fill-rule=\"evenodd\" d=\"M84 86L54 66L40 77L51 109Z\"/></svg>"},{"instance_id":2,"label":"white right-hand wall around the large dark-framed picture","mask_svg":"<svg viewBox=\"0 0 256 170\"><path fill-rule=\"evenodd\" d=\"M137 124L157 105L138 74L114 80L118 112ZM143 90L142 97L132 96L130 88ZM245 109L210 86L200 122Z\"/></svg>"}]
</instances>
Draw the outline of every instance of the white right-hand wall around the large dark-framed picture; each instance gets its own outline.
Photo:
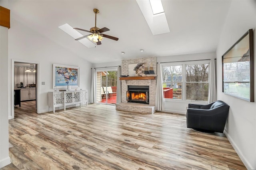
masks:
<instances>
[{"instance_id":1,"label":"white right-hand wall around the large dark-framed picture","mask_svg":"<svg viewBox=\"0 0 256 170\"><path fill-rule=\"evenodd\" d=\"M256 169L256 102L222 93L222 55L249 29L254 31L254 100L256 99L256 1L232 1L217 54L217 99L230 105L225 134L247 169Z\"/></svg>"}]
</instances>

